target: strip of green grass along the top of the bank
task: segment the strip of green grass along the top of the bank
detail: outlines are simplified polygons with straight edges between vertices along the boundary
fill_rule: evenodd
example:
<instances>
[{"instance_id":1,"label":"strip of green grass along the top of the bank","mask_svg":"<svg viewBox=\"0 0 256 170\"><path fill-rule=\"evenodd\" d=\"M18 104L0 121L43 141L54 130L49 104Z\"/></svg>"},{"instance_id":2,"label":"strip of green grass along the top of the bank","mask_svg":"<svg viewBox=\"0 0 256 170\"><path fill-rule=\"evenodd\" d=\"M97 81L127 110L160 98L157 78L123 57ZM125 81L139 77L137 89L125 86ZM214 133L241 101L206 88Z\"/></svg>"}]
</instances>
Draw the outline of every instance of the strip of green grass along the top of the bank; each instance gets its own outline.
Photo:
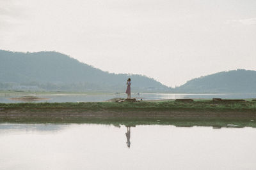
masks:
<instances>
[{"instance_id":1,"label":"strip of green grass along the top of the bank","mask_svg":"<svg viewBox=\"0 0 256 170\"><path fill-rule=\"evenodd\" d=\"M93 103L0 103L0 108L26 110L36 109L77 109L91 111L168 111L168 110L197 110L197 111L256 111L256 102L246 101L238 103L194 101L182 103L175 101L161 102L93 102Z\"/></svg>"}]
</instances>

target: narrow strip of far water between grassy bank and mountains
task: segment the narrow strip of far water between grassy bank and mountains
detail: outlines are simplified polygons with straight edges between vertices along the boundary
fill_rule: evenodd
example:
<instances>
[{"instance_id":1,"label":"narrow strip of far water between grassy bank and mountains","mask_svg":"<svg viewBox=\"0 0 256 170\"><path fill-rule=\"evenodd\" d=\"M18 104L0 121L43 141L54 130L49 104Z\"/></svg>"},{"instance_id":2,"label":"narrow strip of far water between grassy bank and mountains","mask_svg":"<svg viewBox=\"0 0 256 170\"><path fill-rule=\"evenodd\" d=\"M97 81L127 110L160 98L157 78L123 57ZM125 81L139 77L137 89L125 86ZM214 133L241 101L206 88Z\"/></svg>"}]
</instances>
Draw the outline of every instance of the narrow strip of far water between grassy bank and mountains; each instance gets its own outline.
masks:
<instances>
[{"instance_id":1,"label":"narrow strip of far water between grassy bank and mountains","mask_svg":"<svg viewBox=\"0 0 256 170\"><path fill-rule=\"evenodd\" d=\"M13 101L8 98L21 96L20 94L12 94L11 96L6 96L2 94L0 96L0 103L20 103L22 101ZM29 94L27 96L37 96L44 98L51 98L51 100L33 101L36 103L40 102L99 102L106 101L115 97L127 97L125 94L99 94L99 95L63 95L63 94L52 94L52 95L42 95L42 94ZM159 99L182 99L182 98L193 98L193 99L212 99L214 97L222 99L246 99L256 97L256 94L132 94L132 97L140 97L143 100L159 100Z\"/></svg>"}]
</instances>

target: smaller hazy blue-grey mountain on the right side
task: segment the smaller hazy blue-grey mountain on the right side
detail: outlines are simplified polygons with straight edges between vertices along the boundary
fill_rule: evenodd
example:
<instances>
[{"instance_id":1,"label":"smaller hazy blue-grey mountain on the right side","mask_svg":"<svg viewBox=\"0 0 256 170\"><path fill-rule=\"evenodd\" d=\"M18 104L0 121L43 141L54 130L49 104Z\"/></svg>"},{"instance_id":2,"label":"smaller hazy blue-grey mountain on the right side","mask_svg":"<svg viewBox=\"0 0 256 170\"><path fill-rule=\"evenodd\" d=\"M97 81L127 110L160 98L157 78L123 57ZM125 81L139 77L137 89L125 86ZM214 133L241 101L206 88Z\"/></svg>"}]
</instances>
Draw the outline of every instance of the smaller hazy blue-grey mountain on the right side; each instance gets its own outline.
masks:
<instances>
[{"instance_id":1,"label":"smaller hazy blue-grey mountain on the right side","mask_svg":"<svg viewBox=\"0 0 256 170\"><path fill-rule=\"evenodd\" d=\"M172 92L256 93L256 71L237 69L189 80Z\"/></svg>"}]
</instances>

